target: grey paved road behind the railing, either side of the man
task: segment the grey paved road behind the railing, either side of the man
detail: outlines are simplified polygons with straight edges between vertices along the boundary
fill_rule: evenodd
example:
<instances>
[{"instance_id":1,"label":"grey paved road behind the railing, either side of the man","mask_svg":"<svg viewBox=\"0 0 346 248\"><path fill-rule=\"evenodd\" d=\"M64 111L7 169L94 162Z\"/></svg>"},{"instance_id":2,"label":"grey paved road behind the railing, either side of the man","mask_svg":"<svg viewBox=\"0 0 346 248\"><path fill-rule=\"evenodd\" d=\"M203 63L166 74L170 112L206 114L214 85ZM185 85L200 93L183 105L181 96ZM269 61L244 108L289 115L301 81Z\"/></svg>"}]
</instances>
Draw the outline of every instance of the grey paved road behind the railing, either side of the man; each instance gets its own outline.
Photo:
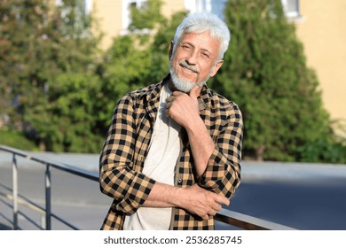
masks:
<instances>
[{"instance_id":1,"label":"grey paved road behind the railing, either side of the man","mask_svg":"<svg viewBox=\"0 0 346 248\"><path fill-rule=\"evenodd\" d=\"M98 155L44 156L97 171ZM11 156L0 153L0 182L11 185ZM19 159L20 194L43 205L43 168ZM80 229L99 229L111 199L97 182L53 170L52 211ZM244 162L242 182L229 209L295 229L346 229L346 166ZM24 208L23 208L24 211ZM0 213L11 218L0 202ZM0 229L9 223L0 216ZM36 216L40 222L40 216ZM22 229L35 229L20 219ZM217 226L224 229L224 226ZM67 229L53 221L52 229Z\"/></svg>"}]
</instances>

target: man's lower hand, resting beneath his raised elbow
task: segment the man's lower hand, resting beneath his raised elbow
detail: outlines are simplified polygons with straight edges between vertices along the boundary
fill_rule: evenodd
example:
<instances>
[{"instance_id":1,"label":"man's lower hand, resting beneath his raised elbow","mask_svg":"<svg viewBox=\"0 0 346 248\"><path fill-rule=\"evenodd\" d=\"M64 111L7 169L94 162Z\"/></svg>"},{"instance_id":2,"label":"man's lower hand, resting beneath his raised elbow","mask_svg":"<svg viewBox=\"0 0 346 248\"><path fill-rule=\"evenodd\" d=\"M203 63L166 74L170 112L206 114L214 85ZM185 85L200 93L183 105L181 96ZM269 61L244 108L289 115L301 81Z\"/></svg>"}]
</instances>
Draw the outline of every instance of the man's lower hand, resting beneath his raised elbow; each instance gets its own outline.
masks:
<instances>
[{"instance_id":1,"label":"man's lower hand, resting beneath his raised elbow","mask_svg":"<svg viewBox=\"0 0 346 248\"><path fill-rule=\"evenodd\" d=\"M202 189L197 184L190 188L181 188L183 194L177 200L177 205L190 213L199 215L203 220L208 220L209 216L215 216L216 212L222 209L222 205L229 205L230 200L219 196L214 192Z\"/></svg>"}]
</instances>

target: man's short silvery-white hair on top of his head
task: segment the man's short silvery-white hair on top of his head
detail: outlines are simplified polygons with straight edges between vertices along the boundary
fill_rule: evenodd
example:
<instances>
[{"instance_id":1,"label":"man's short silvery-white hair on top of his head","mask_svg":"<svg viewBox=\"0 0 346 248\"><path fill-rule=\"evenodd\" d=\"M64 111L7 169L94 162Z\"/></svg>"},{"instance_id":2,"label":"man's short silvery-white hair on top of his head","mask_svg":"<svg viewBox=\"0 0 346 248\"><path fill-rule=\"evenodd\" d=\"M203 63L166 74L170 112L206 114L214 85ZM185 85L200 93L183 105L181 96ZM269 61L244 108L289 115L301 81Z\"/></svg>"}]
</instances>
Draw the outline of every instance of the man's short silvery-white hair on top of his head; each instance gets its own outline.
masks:
<instances>
[{"instance_id":1,"label":"man's short silvery-white hair on top of his head","mask_svg":"<svg viewBox=\"0 0 346 248\"><path fill-rule=\"evenodd\" d=\"M201 34L206 31L210 31L210 36L215 38L220 44L218 58L224 58L224 52L227 50L231 40L230 30L222 19L215 14L207 12L195 12L185 17L177 27L173 40L174 46L177 46L184 34Z\"/></svg>"}]
</instances>

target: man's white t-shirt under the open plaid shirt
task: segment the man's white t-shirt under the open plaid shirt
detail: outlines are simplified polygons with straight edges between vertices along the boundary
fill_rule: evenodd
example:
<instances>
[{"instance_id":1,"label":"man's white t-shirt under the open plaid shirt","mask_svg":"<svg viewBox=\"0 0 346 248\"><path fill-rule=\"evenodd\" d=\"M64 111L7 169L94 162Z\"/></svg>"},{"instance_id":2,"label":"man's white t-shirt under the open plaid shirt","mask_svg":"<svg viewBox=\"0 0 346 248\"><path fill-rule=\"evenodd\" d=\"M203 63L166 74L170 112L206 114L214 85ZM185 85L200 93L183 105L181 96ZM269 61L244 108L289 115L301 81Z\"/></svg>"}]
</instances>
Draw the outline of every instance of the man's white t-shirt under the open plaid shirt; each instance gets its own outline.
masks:
<instances>
[{"instance_id":1,"label":"man's white t-shirt under the open plaid shirt","mask_svg":"<svg viewBox=\"0 0 346 248\"><path fill-rule=\"evenodd\" d=\"M153 126L143 173L157 182L174 185L174 169L180 152L179 131L181 126L166 116L166 98L172 94L165 83L160 95L158 116ZM140 207L125 217L124 230L168 230L172 208Z\"/></svg>"}]
</instances>

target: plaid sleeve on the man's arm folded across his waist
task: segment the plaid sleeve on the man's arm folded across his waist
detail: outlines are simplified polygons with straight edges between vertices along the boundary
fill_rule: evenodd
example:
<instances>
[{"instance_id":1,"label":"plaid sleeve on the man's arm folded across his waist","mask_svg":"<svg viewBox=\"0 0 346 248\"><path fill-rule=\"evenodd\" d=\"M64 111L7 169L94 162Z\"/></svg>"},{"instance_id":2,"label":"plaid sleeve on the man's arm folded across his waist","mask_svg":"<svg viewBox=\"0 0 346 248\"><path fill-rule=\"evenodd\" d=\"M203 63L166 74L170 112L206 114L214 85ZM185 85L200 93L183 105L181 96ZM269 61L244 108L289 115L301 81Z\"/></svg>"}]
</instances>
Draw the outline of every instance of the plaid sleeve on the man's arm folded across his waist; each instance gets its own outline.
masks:
<instances>
[{"instance_id":1,"label":"plaid sleeve on the man's arm folded across his waist","mask_svg":"<svg viewBox=\"0 0 346 248\"><path fill-rule=\"evenodd\" d=\"M155 182L136 165L141 161L134 157L138 134L133 106L132 97L125 95L115 107L99 161L101 191L114 198L114 210L128 214L143 205Z\"/></svg>"}]
</instances>

